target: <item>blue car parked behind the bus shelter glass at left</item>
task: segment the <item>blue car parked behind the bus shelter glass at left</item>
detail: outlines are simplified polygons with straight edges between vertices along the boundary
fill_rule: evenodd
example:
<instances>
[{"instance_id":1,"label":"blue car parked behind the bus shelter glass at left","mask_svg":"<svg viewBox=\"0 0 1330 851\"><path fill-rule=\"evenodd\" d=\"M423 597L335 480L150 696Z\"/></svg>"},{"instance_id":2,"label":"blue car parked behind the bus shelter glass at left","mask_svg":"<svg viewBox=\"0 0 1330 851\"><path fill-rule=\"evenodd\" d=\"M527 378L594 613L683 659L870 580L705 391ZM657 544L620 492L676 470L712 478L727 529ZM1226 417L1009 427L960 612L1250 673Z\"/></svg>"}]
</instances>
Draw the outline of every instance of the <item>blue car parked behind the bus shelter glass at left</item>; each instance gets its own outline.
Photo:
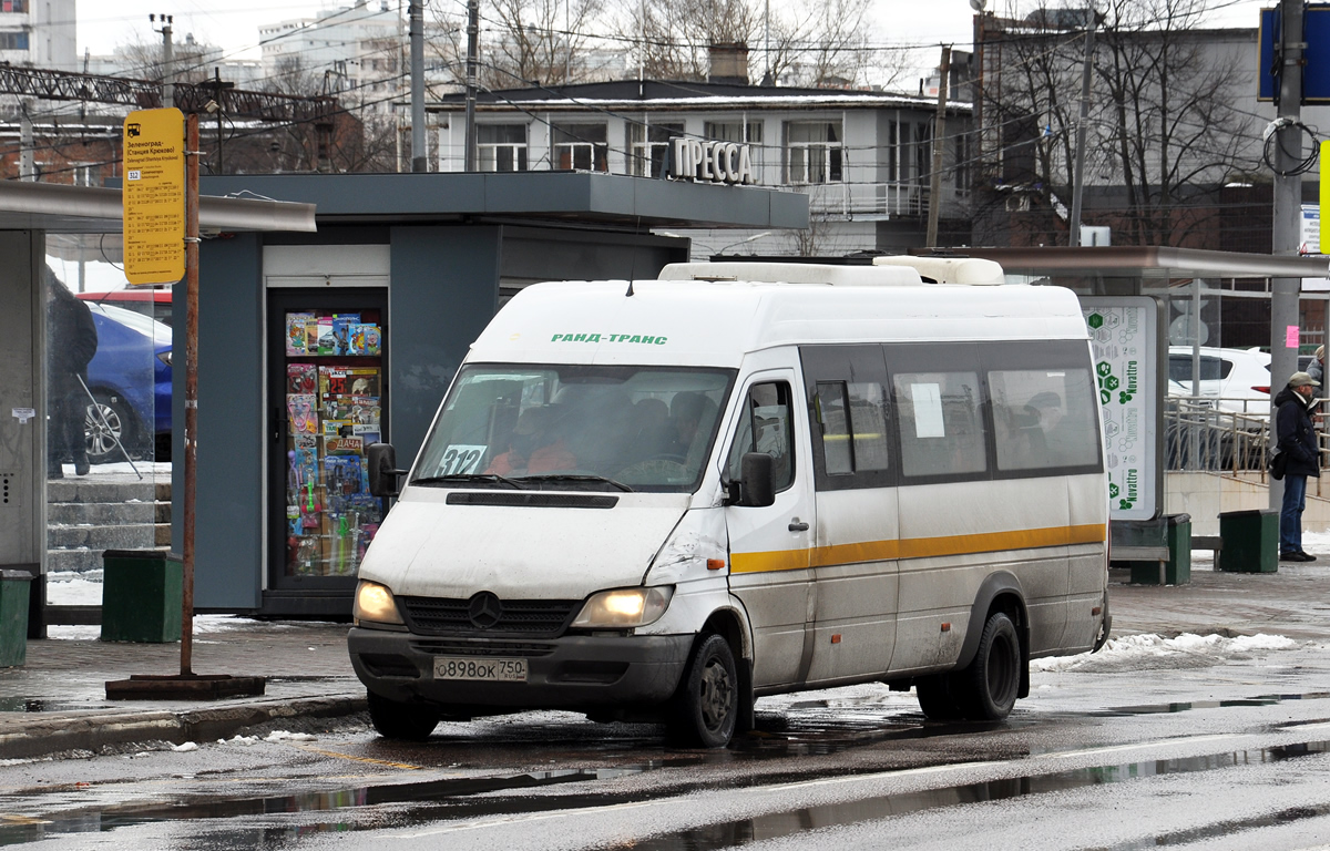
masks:
<instances>
[{"instance_id":1,"label":"blue car parked behind the bus shelter glass at left","mask_svg":"<svg viewBox=\"0 0 1330 851\"><path fill-rule=\"evenodd\" d=\"M130 310L90 303L97 354L88 364L85 429L93 464L170 453L170 327Z\"/></svg>"}]
</instances>

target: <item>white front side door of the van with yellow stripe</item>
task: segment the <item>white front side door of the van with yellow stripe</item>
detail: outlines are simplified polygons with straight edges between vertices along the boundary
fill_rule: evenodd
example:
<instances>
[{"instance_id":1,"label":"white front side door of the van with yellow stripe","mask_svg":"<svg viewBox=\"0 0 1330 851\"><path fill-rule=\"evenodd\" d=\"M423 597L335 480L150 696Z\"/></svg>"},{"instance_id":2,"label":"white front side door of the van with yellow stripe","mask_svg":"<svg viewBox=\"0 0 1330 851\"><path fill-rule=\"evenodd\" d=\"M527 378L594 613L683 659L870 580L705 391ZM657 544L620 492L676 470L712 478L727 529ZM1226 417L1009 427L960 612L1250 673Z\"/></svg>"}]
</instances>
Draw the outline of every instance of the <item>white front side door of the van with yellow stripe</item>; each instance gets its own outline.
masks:
<instances>
[{"instance_id":1,"label":"white front side door of the van with yellow stripe","mask_svg":"<svg viewBox=\"0 0 1330 851\"><path fill-rule=\"evenodd\" d=\"M795 380L790 370L754 375L742 388L739 422L726 455L726 477L738 481L745 452L774 459L775 503L730 505L730 590L743 602L753 628L753 685L802 682L811 648L805 632L817 598L809 553L813 545L813 475L807 435L795 424Z\"/></svg>"}]
</instances>

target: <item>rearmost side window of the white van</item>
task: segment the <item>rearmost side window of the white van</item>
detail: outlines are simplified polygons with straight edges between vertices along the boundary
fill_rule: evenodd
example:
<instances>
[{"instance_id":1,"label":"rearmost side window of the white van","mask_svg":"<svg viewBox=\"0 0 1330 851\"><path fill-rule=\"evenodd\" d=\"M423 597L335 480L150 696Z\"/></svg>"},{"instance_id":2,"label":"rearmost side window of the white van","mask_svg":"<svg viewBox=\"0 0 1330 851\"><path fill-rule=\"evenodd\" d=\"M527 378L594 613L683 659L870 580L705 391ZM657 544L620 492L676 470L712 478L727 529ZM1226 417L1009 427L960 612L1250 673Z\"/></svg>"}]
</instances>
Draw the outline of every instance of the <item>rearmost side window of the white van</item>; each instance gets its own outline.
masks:
<instances>
[{"instance_id":1,"label":"rearmost side window of the white van","mask_svg":"<svg viewBox=\"0 0 1330 851\"><path fill-rule=\"evenodd\" d=\"M1048 469L1099 463L1095 387L1089 370L1007 370L988 374L998 469Z\"/></svg>"}]
</instances>

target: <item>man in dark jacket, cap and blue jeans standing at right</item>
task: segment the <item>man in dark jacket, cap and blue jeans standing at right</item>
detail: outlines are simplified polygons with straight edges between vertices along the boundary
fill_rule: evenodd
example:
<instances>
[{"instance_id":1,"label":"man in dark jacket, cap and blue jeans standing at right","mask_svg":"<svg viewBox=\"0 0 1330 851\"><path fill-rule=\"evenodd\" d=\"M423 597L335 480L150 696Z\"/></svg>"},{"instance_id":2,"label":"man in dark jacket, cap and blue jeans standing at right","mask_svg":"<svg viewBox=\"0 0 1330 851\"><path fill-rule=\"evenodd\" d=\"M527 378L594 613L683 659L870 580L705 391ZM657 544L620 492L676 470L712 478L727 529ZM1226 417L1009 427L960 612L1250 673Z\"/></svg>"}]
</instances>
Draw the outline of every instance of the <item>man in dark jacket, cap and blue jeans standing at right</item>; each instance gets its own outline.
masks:
<instances>
[{"instance_id":1,"label":"man in dark jacket, cap and blue jeans standing at right","mask_svg":"<svg viewBox=\"0 0 1330 851\"><path fill-rule=\"evenodd\" d=\"M1283 508L1279 511L1279 561L1315 561L1302 549L1302 509L1306 507L1307 476L1321 477L1321 453L1311 410L1321 383L1306 372L1294 372L1289 384L1274 398L1279 452L1286 453Z\"/></svg>"}]
</instances>

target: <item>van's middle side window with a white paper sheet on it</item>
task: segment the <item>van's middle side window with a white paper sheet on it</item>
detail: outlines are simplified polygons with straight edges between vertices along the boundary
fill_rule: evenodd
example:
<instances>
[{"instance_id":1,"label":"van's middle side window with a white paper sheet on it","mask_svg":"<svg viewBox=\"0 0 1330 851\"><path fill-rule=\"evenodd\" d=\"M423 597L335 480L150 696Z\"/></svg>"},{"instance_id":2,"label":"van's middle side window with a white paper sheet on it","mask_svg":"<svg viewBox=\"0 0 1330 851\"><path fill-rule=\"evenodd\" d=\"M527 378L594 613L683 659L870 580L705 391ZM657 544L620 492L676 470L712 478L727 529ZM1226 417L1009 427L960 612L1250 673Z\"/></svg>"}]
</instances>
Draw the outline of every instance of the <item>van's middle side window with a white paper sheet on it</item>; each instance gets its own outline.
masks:
<instances>
[{"instance_id":1,"label":"van's middle side window with a white paper sheet on it","mask_svg":"<svg viewBox=\"0 0 1330 851\"><path fill-rule=\"evenodd\" d=\"M955 476L988 468L976 372L898 372L900 467L907 476Z\"/></svg>"}]
</instances>

